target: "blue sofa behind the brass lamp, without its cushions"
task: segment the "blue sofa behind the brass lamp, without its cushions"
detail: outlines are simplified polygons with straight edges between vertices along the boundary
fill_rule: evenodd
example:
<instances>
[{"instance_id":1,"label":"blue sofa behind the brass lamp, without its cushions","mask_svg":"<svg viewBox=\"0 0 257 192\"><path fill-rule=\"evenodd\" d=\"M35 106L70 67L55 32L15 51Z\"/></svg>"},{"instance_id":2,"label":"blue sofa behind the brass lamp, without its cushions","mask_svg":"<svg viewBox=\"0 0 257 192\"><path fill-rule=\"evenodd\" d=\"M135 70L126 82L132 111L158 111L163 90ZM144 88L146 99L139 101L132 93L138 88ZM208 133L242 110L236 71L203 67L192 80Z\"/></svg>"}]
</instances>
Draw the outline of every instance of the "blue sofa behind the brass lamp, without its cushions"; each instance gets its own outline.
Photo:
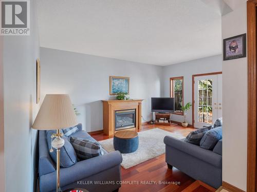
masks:
<instances>
[{"instance_id":1,"label":"blue sofa behind the brass lamp, without its cushions","mask_svg":"<svg viewBox=\"0 0 257 192\"><path fill-rule=\"evenodd\" d=\"M82 131L81 123L77 127L79 131L72 136L95 141L88 133ZM78 187L94 192L118 191L121 186L121 162L120 152L115 151L104 152L102 156L79 161L70 167L61 167L61 188L66 190ZM46 131L39 131L39 183L41 192L56 191L56 163L48 151Z\"/></svg>"}]
</instances>

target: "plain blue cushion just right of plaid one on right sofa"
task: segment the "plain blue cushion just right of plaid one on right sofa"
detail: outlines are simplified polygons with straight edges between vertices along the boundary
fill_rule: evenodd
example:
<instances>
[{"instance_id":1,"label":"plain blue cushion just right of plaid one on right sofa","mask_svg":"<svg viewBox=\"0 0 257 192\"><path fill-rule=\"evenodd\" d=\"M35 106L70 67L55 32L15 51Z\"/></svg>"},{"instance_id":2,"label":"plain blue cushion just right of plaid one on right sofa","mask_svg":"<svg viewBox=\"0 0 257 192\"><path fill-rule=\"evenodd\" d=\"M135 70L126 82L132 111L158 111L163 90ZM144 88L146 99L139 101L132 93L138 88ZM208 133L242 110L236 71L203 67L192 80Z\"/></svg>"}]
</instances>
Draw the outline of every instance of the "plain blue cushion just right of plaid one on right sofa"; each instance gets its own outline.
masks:
<instances>
[{"instance_id":1,"label":"plain blue cushion just right of plaid one on right sofa","mask_svg":"<svg viewBox=\"0 0 257 192\"><path fill-rule=\"evenodd\" d=\"M200 147L213 150L218 140L222 139L222 127L218 126L208 131L200 141Z\"/></svg>"}]
</instances>

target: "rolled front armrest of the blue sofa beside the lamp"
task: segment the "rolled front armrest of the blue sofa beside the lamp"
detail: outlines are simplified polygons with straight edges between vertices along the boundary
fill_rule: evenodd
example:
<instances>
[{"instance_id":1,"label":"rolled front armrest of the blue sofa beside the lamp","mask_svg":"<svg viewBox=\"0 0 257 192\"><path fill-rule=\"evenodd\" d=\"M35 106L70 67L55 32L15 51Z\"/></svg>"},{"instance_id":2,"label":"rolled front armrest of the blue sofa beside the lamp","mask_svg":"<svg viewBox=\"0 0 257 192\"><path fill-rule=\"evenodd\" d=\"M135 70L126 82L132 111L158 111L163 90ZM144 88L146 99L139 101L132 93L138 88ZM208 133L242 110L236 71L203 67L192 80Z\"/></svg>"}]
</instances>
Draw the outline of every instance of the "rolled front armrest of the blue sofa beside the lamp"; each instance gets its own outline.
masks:
<instances>
[{"instance_id":1,"label":"rolled front armrest of the blue sofa beside the lamp","mask_svg":"<svg viewBox=\"0 0 257 192\"><path fill-rule=\"evenodd\" d=\"M106 169L120 165L122 156L119 151L106 155L79 161L75 165L60 169L60 183L62 186L77 182L83 178L98 174ZM44 185L42 185L44 183ZM47 183L47 184L46 184ZM51 191L56 187L56 172L40 177L42 191Z\"/></svg>"}]
</instances>

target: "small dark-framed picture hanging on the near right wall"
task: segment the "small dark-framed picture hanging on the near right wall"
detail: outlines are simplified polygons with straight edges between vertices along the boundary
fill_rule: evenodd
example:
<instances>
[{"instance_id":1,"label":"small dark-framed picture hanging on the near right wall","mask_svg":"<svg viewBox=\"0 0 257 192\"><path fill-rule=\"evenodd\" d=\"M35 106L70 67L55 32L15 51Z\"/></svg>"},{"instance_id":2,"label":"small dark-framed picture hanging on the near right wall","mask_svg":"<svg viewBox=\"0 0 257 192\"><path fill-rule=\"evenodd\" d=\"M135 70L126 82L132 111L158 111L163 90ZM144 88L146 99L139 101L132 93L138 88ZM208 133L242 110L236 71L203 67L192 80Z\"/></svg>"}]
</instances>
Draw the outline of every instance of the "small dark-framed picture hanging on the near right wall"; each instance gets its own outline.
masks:
<instances>
[{"instance_id":1,"label":"small dark-framed picture hanging on the near right wall","mask_svg":"<svg viewBox=\"0 0 257 192\"><path fill-rule=\"evenodd\" d=\"M223 39L223 60L246 57L246 33Z\"/></svg>"}]
</instances>

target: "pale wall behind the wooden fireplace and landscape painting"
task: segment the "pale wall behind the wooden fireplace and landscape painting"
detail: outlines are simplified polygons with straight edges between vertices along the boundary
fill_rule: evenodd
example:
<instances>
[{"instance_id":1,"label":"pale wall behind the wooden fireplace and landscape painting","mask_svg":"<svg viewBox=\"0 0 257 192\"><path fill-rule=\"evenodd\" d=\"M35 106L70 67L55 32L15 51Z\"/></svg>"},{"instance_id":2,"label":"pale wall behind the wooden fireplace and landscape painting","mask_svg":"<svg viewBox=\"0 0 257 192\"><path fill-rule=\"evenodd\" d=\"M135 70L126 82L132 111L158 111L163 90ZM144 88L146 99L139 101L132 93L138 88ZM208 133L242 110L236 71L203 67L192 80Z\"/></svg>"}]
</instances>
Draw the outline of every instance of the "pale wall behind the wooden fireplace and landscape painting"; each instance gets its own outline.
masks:
<instances>
[{"instance_id":1,"label":"pale wall behind the wooden fireplace and landscape painting","mask_svg":"<svg viewBox=\"0 0 257 192\"><path fill-rule=\"evenodd\" d=\"M106 57L41 48L41 97L69 94L87 132L103 129L102 101L109 96L109 76L130 77L130 97L144 99L142 115L151 120L151 97L160 96L162 67Z\"/></svg>"}]
</instances>

